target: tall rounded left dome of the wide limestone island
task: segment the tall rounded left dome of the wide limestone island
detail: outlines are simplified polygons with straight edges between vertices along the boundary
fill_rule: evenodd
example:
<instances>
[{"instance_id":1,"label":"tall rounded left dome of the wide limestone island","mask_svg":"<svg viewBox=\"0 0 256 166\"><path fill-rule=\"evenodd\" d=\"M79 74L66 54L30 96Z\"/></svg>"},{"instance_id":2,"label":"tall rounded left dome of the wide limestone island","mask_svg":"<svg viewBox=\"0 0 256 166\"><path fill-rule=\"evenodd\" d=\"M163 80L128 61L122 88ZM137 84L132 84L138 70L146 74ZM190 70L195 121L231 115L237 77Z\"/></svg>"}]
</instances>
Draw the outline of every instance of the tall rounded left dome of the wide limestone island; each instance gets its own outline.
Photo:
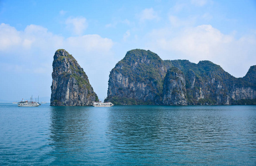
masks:
<instances>
[{"instance_id":1,"label":"tall rounded left dome of the wide limestone island","mask_svg":"<svg viewBox=\"0 0 256 166\"><path fill-rule=\"evenodd\" d=\"M131 50L109 76L106 101L160 104L167 65L151 51Z\"/></svg>"}]
</instances>

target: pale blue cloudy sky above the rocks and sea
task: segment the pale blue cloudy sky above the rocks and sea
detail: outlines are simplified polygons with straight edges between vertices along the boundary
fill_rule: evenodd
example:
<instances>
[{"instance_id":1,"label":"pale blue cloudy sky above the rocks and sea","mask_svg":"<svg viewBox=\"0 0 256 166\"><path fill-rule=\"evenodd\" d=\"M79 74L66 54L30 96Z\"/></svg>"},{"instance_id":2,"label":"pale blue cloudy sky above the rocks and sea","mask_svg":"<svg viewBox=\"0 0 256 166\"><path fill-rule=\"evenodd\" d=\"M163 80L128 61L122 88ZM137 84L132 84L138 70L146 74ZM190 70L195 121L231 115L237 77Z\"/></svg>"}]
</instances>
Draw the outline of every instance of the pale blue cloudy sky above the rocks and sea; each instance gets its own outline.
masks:
<instances>
[{"instance_id":1,"label":"pale blue cloudy sky above the rocks and sea","mask_svg":"<svg viewBox=\"0 0 256 166\"><path fill-rule=\"evenodd\" d=\"M132 49L210 60L235 77L256 65L255 0L0 0L0 102L50 98L56 50L72 54L100 100Z\"/></svg>"}]
</instances>

